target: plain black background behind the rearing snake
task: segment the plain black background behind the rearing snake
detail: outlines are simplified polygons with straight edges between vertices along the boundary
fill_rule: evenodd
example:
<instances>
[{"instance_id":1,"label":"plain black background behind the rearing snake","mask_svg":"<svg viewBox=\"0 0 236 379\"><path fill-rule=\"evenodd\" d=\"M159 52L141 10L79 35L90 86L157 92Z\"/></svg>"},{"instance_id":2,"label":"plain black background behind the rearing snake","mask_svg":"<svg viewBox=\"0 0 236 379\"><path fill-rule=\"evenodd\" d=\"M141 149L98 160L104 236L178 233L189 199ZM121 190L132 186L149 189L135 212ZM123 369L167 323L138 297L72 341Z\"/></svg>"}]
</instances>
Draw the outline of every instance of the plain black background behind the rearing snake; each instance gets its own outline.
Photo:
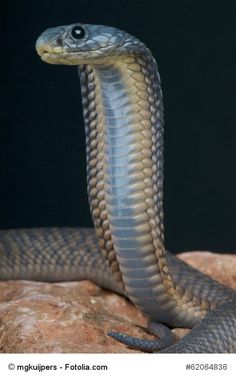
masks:
<instances>
[{"instance_id":1,"label":"plain black background behind the rearing snake","mask_svg":"<svg viewBox=\"0 0 236 379\"><path fill-rule=\"evenodd\" d=\"M166 246L236 250L235 2L8 0L1 12L0 227L92 225L75 67L34 44L74 22L124 29L159 64Z\"/></svg>"}]
</instances>

